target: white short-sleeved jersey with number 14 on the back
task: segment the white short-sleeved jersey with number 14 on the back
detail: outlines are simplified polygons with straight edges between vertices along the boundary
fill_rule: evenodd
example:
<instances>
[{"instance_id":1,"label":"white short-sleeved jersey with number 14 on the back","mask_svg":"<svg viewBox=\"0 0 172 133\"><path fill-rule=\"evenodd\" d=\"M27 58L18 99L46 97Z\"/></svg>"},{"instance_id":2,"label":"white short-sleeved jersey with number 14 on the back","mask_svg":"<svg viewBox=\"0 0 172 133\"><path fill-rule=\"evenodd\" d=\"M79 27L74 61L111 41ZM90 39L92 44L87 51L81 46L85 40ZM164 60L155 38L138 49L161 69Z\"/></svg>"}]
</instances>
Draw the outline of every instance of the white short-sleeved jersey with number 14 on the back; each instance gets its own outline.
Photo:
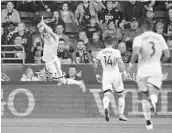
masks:
<instances>
[{"instance_id":1,"label":"white short-sleeved jersey with number 14 on the back","mask_svg":"<svg viewBox=\"0 0 172 133\"><path fill-rule=\"evenodd\" d=\"M99 51L96 59L101 62L104 76L119 75L118 58L121 58L120 51L112 47Z\"/></svg>"}]
</instances>

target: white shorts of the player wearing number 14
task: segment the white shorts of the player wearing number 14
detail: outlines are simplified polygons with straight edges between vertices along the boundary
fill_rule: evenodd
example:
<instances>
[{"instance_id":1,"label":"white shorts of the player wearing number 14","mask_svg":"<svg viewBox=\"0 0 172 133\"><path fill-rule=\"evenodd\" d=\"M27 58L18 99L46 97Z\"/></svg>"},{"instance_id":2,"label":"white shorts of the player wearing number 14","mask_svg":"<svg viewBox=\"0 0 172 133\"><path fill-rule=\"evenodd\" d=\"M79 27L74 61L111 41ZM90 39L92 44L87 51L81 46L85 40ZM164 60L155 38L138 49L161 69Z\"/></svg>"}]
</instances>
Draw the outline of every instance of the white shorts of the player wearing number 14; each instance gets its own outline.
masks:
<instances>
[{"instance_id":1,"label":"white shorts of the player wearing number 14","mask_svg":"<svg viewBox=\"0 0 172 133\"><path fill-rule=\"evenodd\" d=\"M122 93L124 91L124 84L121 75L119 74L119 76L115 78L113 76L104 76L102 80L102 89L104 93L108 90Z\"/></svg>"}]
</instances>

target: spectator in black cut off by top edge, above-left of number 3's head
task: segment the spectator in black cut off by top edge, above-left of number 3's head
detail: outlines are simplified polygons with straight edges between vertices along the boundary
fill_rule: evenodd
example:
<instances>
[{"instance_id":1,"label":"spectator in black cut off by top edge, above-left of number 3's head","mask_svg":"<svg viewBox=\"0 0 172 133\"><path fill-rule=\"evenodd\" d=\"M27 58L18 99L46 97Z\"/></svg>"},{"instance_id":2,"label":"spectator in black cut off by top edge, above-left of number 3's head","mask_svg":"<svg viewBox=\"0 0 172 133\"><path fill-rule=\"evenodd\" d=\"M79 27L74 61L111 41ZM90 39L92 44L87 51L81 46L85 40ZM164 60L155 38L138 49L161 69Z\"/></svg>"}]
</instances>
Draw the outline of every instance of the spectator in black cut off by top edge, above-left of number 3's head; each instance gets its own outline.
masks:
<instances>
[{"instance_id":1,"label":"spectator in black cut off by top edge, above-left of number 3's head","mask_svg":"<svg viewBox=\"0 0 172 133\"><path fill-rule=\"evenodd\" d=\"M124 9L121 27L124 27L127 22L131 22L133 19L137 19L141 25L144 20L144 16L145 9L143 3L136 0L129 0Z\"/></svg>"}]
</instances>

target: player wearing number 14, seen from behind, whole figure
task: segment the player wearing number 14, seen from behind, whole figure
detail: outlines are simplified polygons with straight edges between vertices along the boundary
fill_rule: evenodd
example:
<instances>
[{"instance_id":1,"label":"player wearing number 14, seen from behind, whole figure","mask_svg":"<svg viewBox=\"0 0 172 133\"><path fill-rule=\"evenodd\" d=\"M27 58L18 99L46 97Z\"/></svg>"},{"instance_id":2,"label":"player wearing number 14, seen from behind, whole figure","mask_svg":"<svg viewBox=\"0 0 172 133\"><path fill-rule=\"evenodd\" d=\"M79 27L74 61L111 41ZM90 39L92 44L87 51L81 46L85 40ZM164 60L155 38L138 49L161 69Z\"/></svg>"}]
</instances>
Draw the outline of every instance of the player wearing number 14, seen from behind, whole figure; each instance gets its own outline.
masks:
<instances>
[{"instance_id":1,"label":"player wearing number 14, seen from behind, whole figure","mask_svg":"<svg viewBox=\"0 0 172 133\"><path fill-rule=\"evenodd\" d=\"M110 96L112 92L115 91L118 94L118 109L119 109L119 120L127 121L127 118L124 116L124 108L125 108L125 96L124 96L124 85L122 82L122 77L119 69L121 69L124 76L127 77L127 73L125 71L125 65L121 59L121 54L119 50L112 48L113 38L111 36L107 36L105 38L106 48L101 50L94 63L94 69L96 73L96 77L98 79L101 78L100 75L97 74L97 68L99 63L101 63L103 67L103 75L102 75L102 89L103 89L103 106L105 110L105 120L109 121L109 104L110 104Z\"/></svg>"}]
</instances>

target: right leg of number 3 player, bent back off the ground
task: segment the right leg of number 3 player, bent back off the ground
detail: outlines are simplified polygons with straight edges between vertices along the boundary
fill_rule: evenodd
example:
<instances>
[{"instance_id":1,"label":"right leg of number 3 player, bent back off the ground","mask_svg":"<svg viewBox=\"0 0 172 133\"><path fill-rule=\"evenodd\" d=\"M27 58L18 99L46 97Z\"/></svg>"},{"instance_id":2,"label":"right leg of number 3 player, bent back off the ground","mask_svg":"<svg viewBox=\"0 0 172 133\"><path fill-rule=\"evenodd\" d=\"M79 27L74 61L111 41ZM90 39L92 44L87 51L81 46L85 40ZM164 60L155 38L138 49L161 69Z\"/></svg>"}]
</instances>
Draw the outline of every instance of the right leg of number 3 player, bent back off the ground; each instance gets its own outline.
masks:
<instances>
[{"instance_id":1,"label":"right leg of number 3 player, bent back off the ground","mask_svg":"<svg viewBox=\"0 0 172 133\"><path fill-rule=\"evenodd\" d=\"M156 113L156 104L158 102L159 90L162 85L161 77L150 77L147 80L147 87L149 90L149 100L151 104L151 109Z\"/></svg>"}]
</instances>

